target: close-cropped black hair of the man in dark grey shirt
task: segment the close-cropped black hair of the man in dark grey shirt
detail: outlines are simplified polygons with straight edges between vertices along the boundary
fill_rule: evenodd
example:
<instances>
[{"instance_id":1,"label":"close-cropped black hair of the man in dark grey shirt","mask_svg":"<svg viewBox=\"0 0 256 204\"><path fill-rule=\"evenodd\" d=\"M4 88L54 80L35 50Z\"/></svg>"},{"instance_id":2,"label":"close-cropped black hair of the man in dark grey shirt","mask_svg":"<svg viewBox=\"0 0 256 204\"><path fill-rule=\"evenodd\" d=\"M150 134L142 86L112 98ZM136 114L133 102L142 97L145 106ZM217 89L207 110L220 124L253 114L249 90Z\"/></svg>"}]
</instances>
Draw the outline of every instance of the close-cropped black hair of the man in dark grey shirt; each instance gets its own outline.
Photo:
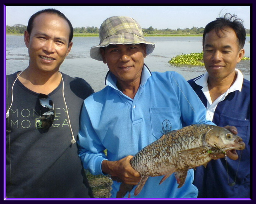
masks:
<instances>
[{"instance_id":1,"label":"close-cropped black hair of the man in dark grey shirt","mask_svg":"<svg viewBox=\"0 0 256 204\"><path fill-rule=\"evenodd\" d=\"M41 11L37 11L36 13L34 13L30 19L29 19L29 23L27 24L27 32L29 33L29 35L31 34L32 32L32 29L33 29L33 21L35 19L36 16L38 16L39 14L41 13L51 13L51 14L56 14L58 15L59 17L62 17L63 19L65 19L67 22L68 22L68 25L69 25L69 28L70 28L70 34L69 34L69 43L71 42L72 38L73 38L73 34L74 34L74 29L73 29L73 26L72 24L70 23L70 21L67 19L67 17L62 13L60 12L59 10L57 9L43 9Z\"/></svg>"}]
</instances>

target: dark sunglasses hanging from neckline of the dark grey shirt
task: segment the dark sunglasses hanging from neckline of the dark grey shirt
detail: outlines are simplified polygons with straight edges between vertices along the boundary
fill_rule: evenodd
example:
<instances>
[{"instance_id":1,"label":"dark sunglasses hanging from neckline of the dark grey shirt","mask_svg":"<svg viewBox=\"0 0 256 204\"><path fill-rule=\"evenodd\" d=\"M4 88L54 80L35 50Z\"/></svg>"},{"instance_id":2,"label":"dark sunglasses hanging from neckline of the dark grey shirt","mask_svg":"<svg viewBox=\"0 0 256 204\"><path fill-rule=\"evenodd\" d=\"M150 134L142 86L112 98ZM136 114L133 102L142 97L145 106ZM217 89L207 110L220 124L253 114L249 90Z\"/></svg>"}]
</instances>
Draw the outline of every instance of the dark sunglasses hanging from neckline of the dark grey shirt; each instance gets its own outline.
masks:
<instances>
[{"instance_id":1,"label":"dark sunglasses hanging from neckline of the dark grey shirt","mask_svg":"<svg viewBox=\"0 0 256 204\"><path fill-rule=\"evenodd\" d=\"M42 128L48 129L52 126L54 120L54 105L50 97L45 94L39 94Z\"/></svg>"}]
</instances>

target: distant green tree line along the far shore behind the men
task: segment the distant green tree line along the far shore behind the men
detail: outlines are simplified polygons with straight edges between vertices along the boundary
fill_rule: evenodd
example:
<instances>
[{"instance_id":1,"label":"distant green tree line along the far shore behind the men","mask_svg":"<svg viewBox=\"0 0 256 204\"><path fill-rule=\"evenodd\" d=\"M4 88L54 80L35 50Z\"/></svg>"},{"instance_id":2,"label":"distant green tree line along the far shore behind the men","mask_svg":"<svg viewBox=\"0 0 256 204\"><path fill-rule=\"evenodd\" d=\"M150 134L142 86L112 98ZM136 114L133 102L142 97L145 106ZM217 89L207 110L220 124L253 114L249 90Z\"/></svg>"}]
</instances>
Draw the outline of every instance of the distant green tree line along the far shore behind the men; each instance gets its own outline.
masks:
<instances>
[{"instance_id":1,"label":"distant green tree line along the far shore behind the men","mask_svg":"<svg viewBox=\"0 0 256 204\"><path fill-rule=\"evenodd\" d=\"M22 24L15 24L13 26L6 26L6 33L7 34L21 34L24 33L26 30L27 26L22 25ZM149 28L143 28L143 32L145 34L155 34L155 35L177 35L177 34L189 34L189 35L201 35L203 34L204 28L203 27L192 27L190 28L185 28L185 29L157 29L153 28L150 26ZM245 29L246 34L251 34L250 29ZM93 33L93 34L98 34L99 33L99 28L97 27L76 27L74 28L74 33Z\"/></svg>"}]
</instances>

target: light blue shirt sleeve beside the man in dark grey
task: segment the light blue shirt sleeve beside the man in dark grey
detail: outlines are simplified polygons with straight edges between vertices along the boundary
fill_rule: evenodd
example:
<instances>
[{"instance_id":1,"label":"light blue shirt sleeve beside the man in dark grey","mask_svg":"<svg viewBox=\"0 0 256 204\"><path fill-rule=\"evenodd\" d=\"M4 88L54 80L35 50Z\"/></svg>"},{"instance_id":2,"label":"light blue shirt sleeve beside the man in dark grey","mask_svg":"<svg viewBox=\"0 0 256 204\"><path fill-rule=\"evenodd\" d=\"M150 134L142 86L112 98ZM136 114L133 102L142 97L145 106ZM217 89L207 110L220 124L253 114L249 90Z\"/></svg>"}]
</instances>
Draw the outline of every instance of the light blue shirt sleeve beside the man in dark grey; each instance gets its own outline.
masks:
<instances>
[{"instance_id":1,"label":"light blue shirt sleeve beside the man in dark grey","mask_svg":"<svg viewBox=\"0 0 256 204\"><path fill-rule=\"evenodd\" d=\"M78 156L80 157L84 168L88 169L93 175L105 175L101 170L102 161L107 160L105 153L103 152L105 147L102 145L97 133L92 128L85 103L81 111L78 138Z\"/></svg>"}]
</instances>

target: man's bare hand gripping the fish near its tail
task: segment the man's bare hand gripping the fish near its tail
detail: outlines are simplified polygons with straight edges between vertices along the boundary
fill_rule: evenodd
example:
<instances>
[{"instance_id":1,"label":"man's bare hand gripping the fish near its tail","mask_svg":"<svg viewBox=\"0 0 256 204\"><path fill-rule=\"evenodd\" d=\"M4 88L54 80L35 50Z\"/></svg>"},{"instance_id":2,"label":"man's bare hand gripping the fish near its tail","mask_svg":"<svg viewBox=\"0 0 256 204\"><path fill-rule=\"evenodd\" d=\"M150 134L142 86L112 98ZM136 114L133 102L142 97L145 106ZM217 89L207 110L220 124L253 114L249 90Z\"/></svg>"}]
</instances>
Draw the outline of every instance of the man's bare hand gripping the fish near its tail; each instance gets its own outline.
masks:
<instances>
[{"instance_id":1,"label":"man's bare hand gripping the fish near its tail","mask_svg":"<svg viewBox=\"0 0 256 204\"><path fill-rule=\"evenodd\" d=\"M118 182L124 182L126 184L137 185L141 180L139 172L134 170L130 164L130 160L133 156L129 155L118 161L102 161L102 172L111 175L113 180ZM116 178L118 177L118 178Z\"/></svg>"}]
</instances>

